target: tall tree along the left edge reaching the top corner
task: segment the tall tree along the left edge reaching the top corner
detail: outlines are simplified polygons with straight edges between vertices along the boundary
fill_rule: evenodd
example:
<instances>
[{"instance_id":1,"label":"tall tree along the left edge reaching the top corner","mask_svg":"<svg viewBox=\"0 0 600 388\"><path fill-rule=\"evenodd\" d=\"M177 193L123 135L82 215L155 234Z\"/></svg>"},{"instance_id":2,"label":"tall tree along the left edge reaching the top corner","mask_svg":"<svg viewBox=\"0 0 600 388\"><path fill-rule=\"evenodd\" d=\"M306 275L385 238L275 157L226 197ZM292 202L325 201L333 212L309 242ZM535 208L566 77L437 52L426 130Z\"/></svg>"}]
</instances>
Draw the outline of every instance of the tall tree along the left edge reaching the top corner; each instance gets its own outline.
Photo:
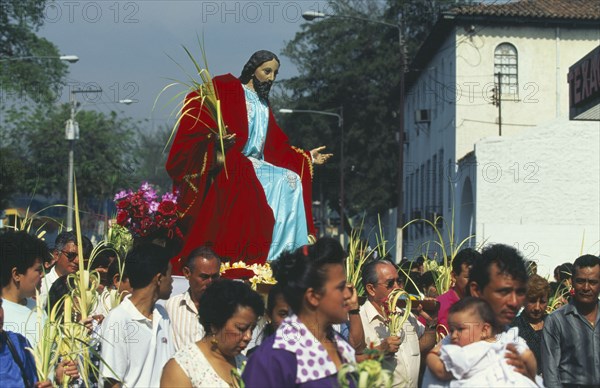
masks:
<instances>
[{"instance_id":1,"label":"tall tree along the left edge reaching the top corner","mask_svg":"<svg viewBox=\"0 0 600 388\"><path fill-rule=\"evenodd\" d=\"M10 139L6 106L49 104L56 100L67 72L57 47L37 36L45 0L0 1L0 209L20 184L26 165Z\"/></svg>"}]
</instances>

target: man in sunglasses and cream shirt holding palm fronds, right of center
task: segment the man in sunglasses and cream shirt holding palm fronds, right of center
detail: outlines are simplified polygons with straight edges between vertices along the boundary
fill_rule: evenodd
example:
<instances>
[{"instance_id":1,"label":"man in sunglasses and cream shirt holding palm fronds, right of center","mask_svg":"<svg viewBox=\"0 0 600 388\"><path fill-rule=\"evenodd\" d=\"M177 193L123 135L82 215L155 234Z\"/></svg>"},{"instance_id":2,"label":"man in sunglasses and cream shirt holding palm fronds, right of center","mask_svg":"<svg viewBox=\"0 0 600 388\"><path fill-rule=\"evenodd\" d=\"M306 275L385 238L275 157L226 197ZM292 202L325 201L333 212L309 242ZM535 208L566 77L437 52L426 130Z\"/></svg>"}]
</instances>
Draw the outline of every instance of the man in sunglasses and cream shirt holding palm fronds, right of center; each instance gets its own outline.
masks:
<instances>
[{"instance_id":1,"label":"man in sunglasses and cream shirt holding palm fronds, right of center","mask_svg":"<svg viewBox=\"0 0 600 388\"><path fill-rule=\"evenodd\" d=\"M367 301L360 308L360 318L367 345L373 344L384 353L382 367L393 373L393 386L417 387L421 353L435 345L436 321L426 313L427 327L410 314L399 336L390 335L384 301L395 289L401 288L396 267L387 260L375 260L363 267L362 282Z\"/></svg>"}]
</instances>

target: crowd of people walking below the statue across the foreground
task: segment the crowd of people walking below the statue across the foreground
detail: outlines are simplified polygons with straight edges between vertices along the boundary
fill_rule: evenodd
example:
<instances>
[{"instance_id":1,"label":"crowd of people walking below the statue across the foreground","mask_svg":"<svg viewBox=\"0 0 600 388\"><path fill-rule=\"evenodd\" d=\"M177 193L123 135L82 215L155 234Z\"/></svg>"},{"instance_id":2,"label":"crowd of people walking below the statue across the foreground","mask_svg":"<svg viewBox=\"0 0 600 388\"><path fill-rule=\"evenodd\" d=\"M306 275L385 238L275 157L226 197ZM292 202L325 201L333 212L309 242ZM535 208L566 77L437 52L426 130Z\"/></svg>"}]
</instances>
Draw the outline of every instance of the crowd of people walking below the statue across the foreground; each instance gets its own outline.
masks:
<instances>
[{"instance_id":1,"label":"crowd of people walking below the statue across the foreground","mask_svg":"<svg viewBox=\"0 0 600 388\"><path fill-rule=\"evenodd\" d=\"M87 262L91 246L82 244ZM65 377L70 386L338 386L341 366L373 350L394 386L600 382L597 256L574 261L573 291L547 314L550 284L528 274L516 249L462 250L452 263L452 287L437 296L437 314L413 310L398 333L389 331L384 304L407 284L407 272L385 259L367 262L362 301L346 279L347 254L331 238L273 261L277 285L268 297L243 281L221 278L221 258L205 246L183 263L188 289L171 295L170 257L167 249L145 243L127 253L124 266L112 259L92 263L106 274L99 295L110 289L126 294L110 311L97 306L81 320L95 333L88 345L97 373L83 381L76 359L59 358L52 379L40 382L26 350L42 340L36 326L47 319L35 306L52 307L72 289L68 275L79 270L78 240L63 232L49 250L26 232L0 235L2 386L45 387Z\"/></svg>"}]
</instances>

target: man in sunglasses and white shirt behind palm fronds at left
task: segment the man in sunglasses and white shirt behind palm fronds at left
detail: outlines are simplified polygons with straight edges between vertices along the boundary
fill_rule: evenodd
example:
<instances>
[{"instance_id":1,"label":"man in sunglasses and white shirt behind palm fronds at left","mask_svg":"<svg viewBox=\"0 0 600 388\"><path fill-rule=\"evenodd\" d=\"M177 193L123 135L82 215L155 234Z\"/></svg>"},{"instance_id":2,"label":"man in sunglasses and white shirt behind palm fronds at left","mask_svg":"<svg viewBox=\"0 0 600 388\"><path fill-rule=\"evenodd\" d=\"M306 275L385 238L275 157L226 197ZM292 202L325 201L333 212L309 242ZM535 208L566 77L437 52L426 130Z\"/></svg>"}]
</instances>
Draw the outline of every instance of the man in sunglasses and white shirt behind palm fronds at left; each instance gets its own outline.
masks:
<instances>
[{"instance_id":1,"label":"man in sunglasses and white shirt behind palm fronds at left","mask_svg":"<svg viewBox=\"0 0 600 388\"><path fill-rule=\"evenodd\" d=\"M48 300L48 291L52 284L63 275L77 272L79 269L79 254L77 251L77 236L73 232L62 232L54 241L54 266L42 279L40 303L44 308Z\"/></svg>"}]
</instances>

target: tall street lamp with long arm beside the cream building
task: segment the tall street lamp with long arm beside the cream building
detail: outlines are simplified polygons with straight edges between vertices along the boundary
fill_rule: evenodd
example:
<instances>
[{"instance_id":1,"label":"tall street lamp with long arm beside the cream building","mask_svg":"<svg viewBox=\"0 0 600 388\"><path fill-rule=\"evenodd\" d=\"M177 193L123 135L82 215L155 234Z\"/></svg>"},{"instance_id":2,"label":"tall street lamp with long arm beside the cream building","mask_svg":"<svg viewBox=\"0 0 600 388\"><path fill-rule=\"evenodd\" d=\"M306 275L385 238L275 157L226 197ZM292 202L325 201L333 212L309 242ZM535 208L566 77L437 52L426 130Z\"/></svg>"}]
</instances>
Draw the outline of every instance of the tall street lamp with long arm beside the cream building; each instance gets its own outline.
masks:
<instances>
[{"instance_id":1,"label":"tall street lamp with long arm beside the cream building","mask_svg":"<svg viewBox=\"0 0 600 388\"><path fill-rule=\"evenodd\" d=\"M387 27L393 27L398 30L398 43L400 45L400 126L398 128L399 133L399 147L398 147L398 211L396 218L396 259L402 260L402 224L403 224L403 207L404 207L404 47L402 37L402 27L399 24L387 23L381 20L374 20L369 18L363 18L360 16L350 15L328 15L317 11L307 11L302 14L302 18L306 21L312 21L315 19L322 19L326 17L340 18L340 19L353 19L360 20L367 23L382 24Z\"/></svg>"}]
</instances>

